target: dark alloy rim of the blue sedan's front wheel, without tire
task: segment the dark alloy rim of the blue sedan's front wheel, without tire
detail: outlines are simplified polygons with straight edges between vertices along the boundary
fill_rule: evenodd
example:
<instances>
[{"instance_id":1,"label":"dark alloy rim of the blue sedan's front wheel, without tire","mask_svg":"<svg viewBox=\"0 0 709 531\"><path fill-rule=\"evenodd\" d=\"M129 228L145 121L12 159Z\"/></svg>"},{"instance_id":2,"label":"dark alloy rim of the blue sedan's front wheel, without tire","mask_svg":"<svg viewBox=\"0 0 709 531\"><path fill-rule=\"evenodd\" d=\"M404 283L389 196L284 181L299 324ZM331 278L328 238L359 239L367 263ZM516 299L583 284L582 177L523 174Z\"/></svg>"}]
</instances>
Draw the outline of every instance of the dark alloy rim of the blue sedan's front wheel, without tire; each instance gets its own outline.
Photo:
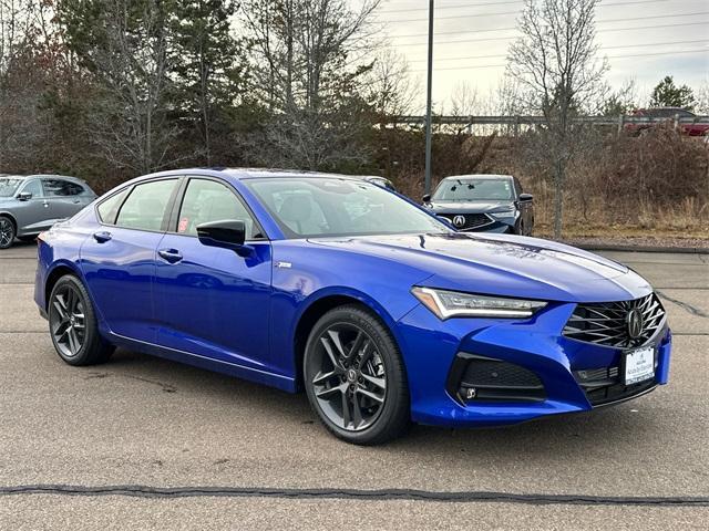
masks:
<instances>
[{"instance_id":1,"label":"dark alloy rim of the blue sedan's front wheel, without tire","mask_svg":"<svg viewBox=\"0 0 709 531\"><path fill-rule=\"evenodd\" d=\"M348 431L371 426L387 398L387 372L371 336L352 323L333 324L312 354L310 385L327 418Z\"/></svg>"}]
</instances>

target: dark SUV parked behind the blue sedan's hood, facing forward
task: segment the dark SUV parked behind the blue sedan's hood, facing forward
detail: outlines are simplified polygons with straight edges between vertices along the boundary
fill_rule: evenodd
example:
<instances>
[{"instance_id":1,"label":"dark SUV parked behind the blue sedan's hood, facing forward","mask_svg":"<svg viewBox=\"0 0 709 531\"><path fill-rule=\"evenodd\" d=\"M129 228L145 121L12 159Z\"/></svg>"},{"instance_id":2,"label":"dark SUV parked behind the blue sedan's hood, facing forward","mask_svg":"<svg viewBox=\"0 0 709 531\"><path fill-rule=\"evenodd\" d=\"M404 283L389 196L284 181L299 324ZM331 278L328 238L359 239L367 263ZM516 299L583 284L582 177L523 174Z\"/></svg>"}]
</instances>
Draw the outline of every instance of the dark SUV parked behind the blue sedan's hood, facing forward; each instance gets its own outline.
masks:
<instances>
[{"instance_id":1,"label":"dark SUV parked behind the blue sedan's hood, facing forward","mask_svg":"<svg viewBox=\"0 0 709 531\"><path fill-rule=\"evenodd\" d=\"M511 175L455 175L439 183L423 205L458 230L532 235L532 196Z\"/></svg>"}]
</instances>

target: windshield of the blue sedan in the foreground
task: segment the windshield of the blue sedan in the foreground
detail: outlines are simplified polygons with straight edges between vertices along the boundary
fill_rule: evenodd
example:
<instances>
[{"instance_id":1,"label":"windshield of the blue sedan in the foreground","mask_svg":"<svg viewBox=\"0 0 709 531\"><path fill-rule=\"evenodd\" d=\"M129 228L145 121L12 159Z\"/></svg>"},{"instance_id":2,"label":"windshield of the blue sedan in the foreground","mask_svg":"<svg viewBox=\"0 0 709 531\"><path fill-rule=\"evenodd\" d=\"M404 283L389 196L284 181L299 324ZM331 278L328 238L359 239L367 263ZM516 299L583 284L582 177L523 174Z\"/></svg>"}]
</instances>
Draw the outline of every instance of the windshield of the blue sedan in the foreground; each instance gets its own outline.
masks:
<instances>
[{"instance_id":1,"label":"windshield of the blue sedan in the foreground","mask_svg":"<svg viewBox=\"0 0 709 531\"><path fill-rule=\"evenodd\" d=\"M451 232L376 185L338 178L245 180L289 238Z\"/></svg>"}]
</instances>

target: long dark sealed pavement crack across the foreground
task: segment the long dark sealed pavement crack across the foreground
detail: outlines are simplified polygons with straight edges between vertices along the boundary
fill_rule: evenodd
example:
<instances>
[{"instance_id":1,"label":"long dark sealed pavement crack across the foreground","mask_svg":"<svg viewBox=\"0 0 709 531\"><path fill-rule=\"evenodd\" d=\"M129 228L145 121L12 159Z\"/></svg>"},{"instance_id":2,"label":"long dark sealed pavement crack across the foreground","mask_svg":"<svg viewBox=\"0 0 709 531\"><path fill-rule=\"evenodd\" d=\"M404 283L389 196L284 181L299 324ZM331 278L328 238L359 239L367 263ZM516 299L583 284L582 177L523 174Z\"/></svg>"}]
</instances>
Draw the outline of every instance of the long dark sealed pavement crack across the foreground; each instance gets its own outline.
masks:
<instances>
[{"instance_id":1,"label":"long dark sealed pavement crack across the foreground","mask_svg":"<svg viewBox=\"0 0 709 531\"><path fill-rule=\"evenodd\" d=\"M55 496L126 496L134 498L287 498L287 499L348 499L348 500L414 500L487 503L526 503L534 506L646 506L646 507L709 507L709 497L645 497L645 496L588 496L513 493L491 491L430 491L413 489L289 489L269 487L151 487L81 486L81 485L17 485L0 487L0 496L55 494Z\"/></svg>"}]
</instances>

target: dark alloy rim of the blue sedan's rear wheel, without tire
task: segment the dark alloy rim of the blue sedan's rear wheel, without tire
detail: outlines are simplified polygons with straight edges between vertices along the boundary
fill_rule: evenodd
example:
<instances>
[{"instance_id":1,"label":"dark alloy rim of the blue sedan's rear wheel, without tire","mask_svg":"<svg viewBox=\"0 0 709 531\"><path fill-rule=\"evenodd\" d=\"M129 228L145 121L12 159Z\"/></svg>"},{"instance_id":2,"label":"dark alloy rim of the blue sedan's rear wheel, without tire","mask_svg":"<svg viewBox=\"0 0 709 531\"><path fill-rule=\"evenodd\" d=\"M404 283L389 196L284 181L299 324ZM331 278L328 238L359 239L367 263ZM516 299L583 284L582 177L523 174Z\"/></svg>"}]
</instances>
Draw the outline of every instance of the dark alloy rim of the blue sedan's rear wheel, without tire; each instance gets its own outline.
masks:
<instances>
[{"instance_id":1,"label":"dark alloy rim of the blue sedan's rear wheel, without tire","mask_svg":"<svg viewBox=\"0 0 709 531\"><path fill-rule=\"evenodd\" d=\"M81 293L71 284L62 285L52 298L50 329L56 348L64 357L74 357L86 339L84 302Z\"/></svg>"}]
</instances>

